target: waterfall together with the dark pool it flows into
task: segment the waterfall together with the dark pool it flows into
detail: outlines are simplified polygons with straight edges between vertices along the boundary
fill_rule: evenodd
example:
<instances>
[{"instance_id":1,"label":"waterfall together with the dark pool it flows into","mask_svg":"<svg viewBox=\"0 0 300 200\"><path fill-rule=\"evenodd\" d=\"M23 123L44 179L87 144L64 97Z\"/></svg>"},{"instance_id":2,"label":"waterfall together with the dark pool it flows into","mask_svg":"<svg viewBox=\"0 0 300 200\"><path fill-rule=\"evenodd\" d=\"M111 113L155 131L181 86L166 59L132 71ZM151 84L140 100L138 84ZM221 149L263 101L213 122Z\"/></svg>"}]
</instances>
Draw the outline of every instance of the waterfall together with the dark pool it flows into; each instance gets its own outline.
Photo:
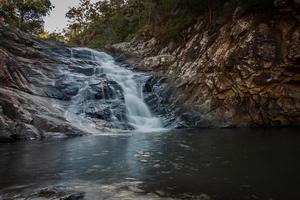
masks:
<instances>
[{"instance_id":1,"label":"waterfall together with the dark pool it flows into","mask_svg":"<svg viewBox=\"0 0 300 200\"><path fill-rule=\"evenodd\" d=\"M176 130L149 75L87 48L50 53L53 107L90 135L1 144L1 200L51 187L88 200L300 199L299 128Z\"/></svg>"}]
</instances>

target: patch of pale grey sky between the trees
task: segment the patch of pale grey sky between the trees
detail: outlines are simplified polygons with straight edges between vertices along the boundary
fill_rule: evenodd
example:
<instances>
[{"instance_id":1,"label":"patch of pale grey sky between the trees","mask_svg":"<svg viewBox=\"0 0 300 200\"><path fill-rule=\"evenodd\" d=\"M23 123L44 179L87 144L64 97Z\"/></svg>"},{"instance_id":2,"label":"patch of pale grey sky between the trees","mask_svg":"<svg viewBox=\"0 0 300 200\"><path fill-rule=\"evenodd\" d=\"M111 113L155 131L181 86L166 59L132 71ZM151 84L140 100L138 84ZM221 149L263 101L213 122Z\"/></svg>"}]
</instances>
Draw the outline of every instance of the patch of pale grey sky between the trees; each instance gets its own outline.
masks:
<instances>
[{"instance_id":1,"label":"patch of pale grey sky between the trees","mask_svg":"<svg viewBox=\"0 0 300 200\"><path fill-rule=\"evenodd\" d=\"M92 0L92 2L96 1ZM45 18L45 30L48 32L61 31L67 27L68 20L65 16L66 13L70 7L78 5L79 0L51 0L51 3L55 8Z\"/></svg>"}]
</instances>

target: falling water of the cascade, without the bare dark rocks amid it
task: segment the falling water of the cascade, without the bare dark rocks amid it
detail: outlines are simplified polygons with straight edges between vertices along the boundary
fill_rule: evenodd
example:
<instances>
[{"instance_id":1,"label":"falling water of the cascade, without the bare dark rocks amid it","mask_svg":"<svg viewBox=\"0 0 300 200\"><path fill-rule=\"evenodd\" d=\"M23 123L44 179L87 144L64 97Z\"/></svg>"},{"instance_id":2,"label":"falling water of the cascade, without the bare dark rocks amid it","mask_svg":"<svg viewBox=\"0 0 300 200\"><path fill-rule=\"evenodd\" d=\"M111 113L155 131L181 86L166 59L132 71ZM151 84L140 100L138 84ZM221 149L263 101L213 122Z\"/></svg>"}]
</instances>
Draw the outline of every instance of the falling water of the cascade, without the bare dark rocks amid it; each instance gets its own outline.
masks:
<instances>
[{"instance_id":1,"label":"falling water of the cascade, without the bare dark rocks amid it","mask_svg":"<svg viewBox=\"0 0 300 200\"><path fill-rule=\"evenodd\" d=\"M148 132L163 129L160 118L154 116L144 102L143 83L139 80L145 78L145 75L119 66L112 56L104 52L88 48L71 49L71 60L73 64L69 67L69 71L64 71L63 73L77 78L80 77L82 84L78 94L72 97L72 104L67 109L66 118L69 121L83 129L85 124L93 124L86 118L85 114L88 109L97 111L98 108L91 108L91 105L99 106L104 104L110 106L105 112L111 117L112 123L127 123L137 131ZM88 74L88 69L90 68L93 70L92 75ZM70 71L70 69L73 71ZM103 97L101 96L101 100L97 101L88 95L90 95L94 83L97 80L102 80L103 77L108 83L107 85L99 86L98 92L103 94ZM126 119L120 117L120 114L116 114L116 111L112 108L115 104L123 104L122 106L125 106ZM94 126L91 125L85 130L89 130Z\"/></svg>"}]
</instances>

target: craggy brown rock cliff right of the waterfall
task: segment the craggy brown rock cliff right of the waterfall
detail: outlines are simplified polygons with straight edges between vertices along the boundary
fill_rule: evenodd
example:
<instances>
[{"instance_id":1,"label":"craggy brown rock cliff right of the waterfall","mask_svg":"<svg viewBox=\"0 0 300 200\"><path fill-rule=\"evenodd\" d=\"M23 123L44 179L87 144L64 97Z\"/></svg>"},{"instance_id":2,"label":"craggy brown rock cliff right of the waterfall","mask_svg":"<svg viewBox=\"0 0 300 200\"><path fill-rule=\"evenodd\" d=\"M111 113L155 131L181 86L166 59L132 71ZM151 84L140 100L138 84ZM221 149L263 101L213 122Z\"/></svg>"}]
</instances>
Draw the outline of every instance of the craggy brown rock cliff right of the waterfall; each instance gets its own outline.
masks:
<instances>
[{"instance_id":1,"label":"craggy brown rock cliff right of the waterfall","mask_svg":"<svg viewBox=\"0 0 300 200\"><path fill-rule=\"evenodd\" d=\"M214 33L200 16L176 48L152 37L112 50L160 74L168 101L190 125L300 125L300 3L274 4L265 13L237 8Z\"/></svg>"}]
</instances>

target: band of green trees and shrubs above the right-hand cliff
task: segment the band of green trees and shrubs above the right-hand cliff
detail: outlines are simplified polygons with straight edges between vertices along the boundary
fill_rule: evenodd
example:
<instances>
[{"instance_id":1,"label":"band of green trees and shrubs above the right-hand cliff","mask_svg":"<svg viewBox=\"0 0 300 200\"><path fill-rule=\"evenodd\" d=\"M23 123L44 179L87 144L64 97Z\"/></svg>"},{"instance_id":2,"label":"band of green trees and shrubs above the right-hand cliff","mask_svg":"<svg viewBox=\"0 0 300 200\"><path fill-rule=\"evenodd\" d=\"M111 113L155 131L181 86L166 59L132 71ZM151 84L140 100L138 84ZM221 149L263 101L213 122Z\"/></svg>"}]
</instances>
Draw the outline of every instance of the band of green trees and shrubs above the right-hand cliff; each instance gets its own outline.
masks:
<instances>
[{"instance_id":1,"label":"band of green trees and shrubs above the right-hand cliff","mask_svg":"<svg viewBox=\"0 0 300 200\"><path fill-rule=\"evenodd\" d=\"M71 23L67 35L72 44L99 48L137 34L178 43L184 40L183 30L200 15L206 16L213 34L232 19L237 6L246 11L270 8L273 0L80 0L67 14Z\"/></svg>"}]
</instances>

